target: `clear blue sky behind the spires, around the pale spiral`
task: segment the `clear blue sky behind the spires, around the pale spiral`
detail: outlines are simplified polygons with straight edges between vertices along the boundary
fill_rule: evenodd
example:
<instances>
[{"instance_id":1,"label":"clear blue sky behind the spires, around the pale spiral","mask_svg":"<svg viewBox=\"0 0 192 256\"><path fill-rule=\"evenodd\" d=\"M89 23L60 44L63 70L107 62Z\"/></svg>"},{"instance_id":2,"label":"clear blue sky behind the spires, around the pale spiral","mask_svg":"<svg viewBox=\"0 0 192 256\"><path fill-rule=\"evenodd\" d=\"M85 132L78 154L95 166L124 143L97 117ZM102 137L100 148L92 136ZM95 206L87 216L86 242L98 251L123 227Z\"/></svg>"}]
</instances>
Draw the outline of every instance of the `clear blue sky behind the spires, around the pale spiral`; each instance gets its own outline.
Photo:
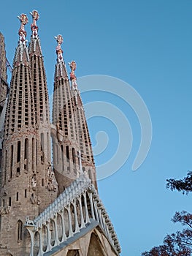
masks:
<instances>
[{"instance_id":1,"label":"clear blue sky behind the spires, around the pale spiral","mask_svg":"<svg viewBox=\"0 0 192 256\"><path fill-rule=\"evenodd\" d=\"M17 16L24 12L31 23L32 10L40 14L39 35L50 94L55 64L53 37L62 34L64 59L66 63L77 62L77 77L119 78L133 86L147 105L152 143L145 162L132 171L141 140L136 113L109 92L82 94L84 103L115 105L131 126L131 153L120 170L99 181L99 194L118 233L121 255L141 255L180 228L170 220L175 211L192 211L191 195L186 197L165 187L166 178L182 178L191 170L192 1L2 1L0 31L10 62L18 42ZM90 118L88 126L93 146L98 131L108 135L107 148L96 157L96 165L110 161L118 147L120 127L103 116ZM123 154L127 148L118 150Z\"/></svg>"}]
</instances>

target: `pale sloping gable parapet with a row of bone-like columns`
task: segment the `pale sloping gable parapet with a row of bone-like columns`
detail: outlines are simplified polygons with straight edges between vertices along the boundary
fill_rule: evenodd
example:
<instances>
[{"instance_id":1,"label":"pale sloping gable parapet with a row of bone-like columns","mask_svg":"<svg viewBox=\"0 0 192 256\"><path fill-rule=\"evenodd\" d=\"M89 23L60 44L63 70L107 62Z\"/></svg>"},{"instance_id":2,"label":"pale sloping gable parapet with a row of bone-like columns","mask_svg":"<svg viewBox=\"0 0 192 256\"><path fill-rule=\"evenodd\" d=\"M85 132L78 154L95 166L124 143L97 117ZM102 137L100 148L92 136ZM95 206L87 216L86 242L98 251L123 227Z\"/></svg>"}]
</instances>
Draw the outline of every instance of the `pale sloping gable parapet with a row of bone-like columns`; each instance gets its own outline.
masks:
<instances>
[{"instance_id":1,"label":"pale sloping gable parapet with a row of bone-like columns","mask_svg":"<svg viewBox=\"0 0 192 256\"><path fill-rule=\"evenodd\" d=\"M112 222L91 180L83 173L34 221L27 217L25 226L31 235L30 256L45 255L91 222L99 223L119 255L120 245Z\"/></svg>"}]
</instances>

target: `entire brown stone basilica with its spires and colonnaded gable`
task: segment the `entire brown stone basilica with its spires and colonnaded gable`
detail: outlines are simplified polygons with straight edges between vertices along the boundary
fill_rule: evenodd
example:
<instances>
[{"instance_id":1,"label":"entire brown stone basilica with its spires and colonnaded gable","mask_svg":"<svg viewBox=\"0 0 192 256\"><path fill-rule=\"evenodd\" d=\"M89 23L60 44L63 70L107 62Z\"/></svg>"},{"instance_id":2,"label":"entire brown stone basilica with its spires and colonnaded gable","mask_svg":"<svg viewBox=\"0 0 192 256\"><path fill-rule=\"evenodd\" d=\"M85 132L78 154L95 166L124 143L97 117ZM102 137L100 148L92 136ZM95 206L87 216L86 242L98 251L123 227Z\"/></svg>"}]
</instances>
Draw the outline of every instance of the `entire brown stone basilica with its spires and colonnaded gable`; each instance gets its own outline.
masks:
<instances>
[{"instance_id":1,"label":"entire brown stone basilica with its spires and colonnaded gable","mask_svg":"<svg viewBox=\"0 0 192 256\"><path fill-rule=\"evenodd\" d=\"M75 61L69 63L69 79L61 49L63 39L55 37L57 63L50 124L39 13L33 11L31 16L29 47L28 18L18 16L19 40L8 98L7 60L0 34L0 255L119 255L118 238L97 191Z\"/></svg>"}]
</instances>

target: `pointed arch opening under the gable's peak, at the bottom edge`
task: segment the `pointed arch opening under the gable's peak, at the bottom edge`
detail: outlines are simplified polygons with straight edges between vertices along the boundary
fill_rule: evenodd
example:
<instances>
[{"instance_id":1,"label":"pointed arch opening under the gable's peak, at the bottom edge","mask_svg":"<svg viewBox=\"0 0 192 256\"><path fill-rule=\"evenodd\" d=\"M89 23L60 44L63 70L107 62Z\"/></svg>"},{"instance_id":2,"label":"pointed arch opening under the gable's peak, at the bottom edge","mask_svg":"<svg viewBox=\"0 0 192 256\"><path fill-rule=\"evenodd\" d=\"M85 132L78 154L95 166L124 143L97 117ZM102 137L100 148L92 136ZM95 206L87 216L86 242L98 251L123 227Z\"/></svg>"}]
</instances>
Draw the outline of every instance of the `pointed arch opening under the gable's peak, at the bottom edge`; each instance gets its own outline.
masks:
<instances>
[{"instance_id":1,"label":"pointed arch opening under the gable's peak, at the bottom edge","mask_svg":"<svg viewBox=\"0 0 192 256\"><path fill-rule=\"evenodd\" d=\"M91 234L87 256L107 256L107 254L104 252L104 248L101 244L99 236L97 236L96 233Z\"/></svg>"}]
</instances>

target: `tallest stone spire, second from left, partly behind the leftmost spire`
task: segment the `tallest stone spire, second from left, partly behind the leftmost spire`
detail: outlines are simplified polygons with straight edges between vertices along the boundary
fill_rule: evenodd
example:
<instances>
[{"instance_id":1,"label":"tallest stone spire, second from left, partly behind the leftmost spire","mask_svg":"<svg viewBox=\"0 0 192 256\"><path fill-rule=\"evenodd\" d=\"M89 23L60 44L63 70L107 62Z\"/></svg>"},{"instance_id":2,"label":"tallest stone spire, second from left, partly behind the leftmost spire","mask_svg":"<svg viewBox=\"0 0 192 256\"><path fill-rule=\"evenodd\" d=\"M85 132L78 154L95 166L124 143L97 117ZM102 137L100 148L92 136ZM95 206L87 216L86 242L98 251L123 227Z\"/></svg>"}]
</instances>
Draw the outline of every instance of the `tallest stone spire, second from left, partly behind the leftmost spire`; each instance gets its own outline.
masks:
<instances>
[{"instance_id":1,"label":"tallest stone spire, second from left, partly behind the leftmost spire","mask_svg":"<svg viewBox=\"0 0 192 256\"><path fill-rule=\"evenodd\" d=\"M37 20L39 13L34 10L30 12L33 23L31 24L31 41L29 46L29 57L31 64L31 79L34 91L34 112L37 132L37 179L39 184L39 195L42 197L39 205L40 211L53 202L57 196L58 185L51 166L50 148L50 108L47 90L47 79L42 57L42 49L38 34ZM45 189L47 188L47 189Z\"/></svg>"}]
</instances>

